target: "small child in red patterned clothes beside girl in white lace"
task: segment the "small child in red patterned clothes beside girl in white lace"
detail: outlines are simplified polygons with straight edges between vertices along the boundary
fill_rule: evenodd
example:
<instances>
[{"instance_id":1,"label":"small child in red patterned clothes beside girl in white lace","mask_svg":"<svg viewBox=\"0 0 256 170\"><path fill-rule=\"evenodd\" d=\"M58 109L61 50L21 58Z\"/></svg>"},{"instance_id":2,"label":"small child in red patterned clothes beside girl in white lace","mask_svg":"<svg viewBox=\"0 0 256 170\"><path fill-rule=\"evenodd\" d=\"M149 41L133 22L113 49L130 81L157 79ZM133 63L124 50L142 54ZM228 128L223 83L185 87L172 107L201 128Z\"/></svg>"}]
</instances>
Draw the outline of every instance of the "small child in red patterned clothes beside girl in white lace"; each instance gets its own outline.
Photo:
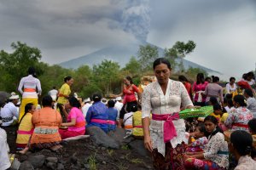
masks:
<instances>
[{"instance_id":1,"label":"small child in red patterned clothes beside girl in white lace","mask_svg":"<svg viewBox=\"0 0 256 170\"><path fill-rule=\"evenodd\" d=\"M191 152L195 153L195 152L203 151L204 145L208 143L206 133L207 131L206 131L205 125L203 123L198 124L197 127L195 128L194 135L189 136L189 144L186 149L186 152L188 155Z\"/></svg>"}]
</instances>

